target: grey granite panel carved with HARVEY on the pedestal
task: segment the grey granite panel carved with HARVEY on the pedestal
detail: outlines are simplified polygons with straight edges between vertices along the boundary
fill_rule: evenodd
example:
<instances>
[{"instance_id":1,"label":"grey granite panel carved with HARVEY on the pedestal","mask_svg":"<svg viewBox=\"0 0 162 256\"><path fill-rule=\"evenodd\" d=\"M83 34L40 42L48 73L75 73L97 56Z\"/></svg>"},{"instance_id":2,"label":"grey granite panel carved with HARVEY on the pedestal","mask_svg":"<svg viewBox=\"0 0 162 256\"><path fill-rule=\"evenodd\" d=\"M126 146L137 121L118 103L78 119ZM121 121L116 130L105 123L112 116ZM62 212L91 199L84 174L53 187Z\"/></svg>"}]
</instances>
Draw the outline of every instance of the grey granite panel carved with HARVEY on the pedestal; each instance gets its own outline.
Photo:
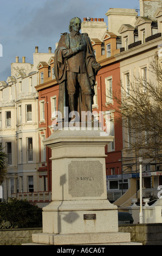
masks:
<instances>
[{"instance_id":1,"label":"grey granite panel carved with HARVEY on the pedestal","mask_svg":"<svg viewBox=\"0 0 162 256\"><path fill-rule=\"evenodd\" d=\"M68 166L68 189L72 197L99 197L103 191L100 161L72 161Z\"/></svg>"}]
</instances>

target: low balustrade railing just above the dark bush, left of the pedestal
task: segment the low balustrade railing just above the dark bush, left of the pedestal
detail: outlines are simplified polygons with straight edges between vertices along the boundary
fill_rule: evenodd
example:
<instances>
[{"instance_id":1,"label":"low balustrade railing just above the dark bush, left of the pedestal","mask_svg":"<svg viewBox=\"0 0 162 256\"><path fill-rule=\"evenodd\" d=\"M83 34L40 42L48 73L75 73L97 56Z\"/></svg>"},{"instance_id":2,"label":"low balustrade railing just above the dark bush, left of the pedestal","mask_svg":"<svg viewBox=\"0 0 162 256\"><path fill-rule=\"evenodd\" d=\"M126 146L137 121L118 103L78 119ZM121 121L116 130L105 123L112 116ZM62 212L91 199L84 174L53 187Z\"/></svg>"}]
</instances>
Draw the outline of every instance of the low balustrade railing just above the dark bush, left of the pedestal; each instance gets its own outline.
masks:
<instances>
[{"instance_id":1,"label":"low balustrade railing just above the dark bush, left of the pedestal","mask_svg":"<svg viewBox=\"0 0 162 256\"><path fill-rule=\"evenodd\" d=\"M12 194L12 197L28 200L31 203L47 203L51 201L50 191L38 191L38 192L23 192Z\"/></svg>"}]
</instances>

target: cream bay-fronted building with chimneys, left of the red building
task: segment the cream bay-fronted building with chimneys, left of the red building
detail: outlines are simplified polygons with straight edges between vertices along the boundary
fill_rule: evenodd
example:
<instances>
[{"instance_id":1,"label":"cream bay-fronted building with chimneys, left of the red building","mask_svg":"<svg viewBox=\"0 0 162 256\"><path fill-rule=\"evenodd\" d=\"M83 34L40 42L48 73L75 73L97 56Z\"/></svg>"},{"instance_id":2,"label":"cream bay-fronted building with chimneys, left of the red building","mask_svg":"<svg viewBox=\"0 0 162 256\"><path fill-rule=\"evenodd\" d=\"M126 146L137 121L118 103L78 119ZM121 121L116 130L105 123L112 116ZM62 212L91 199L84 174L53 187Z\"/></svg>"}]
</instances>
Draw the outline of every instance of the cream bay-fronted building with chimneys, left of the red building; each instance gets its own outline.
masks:
<instances>
[{"instance_id":1,"label":"cream bay-fronted building with chimneys, left of the red building","mask_svg":"<svg viewBox=\"0 0 162 256\"><path fill-rule=\"evenodd\" d=\"M11 76L0 81L0 143L8 154L7 179L3 182L3 199L17 197L37 203L50 200L45 191L47 175L37 170L41 164L38 139L38 81L37 65L53 56L33 54L34 64L25 63L25 57L11 63ZM46 162L44 163L46 164Z\"/></svg>"}]
</instances>

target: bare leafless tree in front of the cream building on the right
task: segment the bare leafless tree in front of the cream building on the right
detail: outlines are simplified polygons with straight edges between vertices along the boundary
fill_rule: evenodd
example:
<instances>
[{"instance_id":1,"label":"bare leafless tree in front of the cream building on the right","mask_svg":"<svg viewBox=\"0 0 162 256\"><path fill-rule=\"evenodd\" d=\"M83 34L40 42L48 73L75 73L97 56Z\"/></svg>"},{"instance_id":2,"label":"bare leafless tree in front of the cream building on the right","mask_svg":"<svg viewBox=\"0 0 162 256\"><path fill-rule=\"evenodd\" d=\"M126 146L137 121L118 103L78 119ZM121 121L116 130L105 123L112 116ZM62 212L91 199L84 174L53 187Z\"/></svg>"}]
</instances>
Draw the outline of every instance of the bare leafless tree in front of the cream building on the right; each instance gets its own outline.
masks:
<instances>
[{"instance_id":1,"label":"bare leafless tree in front of the cream building on the right","mask_svg":"<svg viewBox=\"0 0 162 256\"><path fill-rule=\"evenodd\" d=\"M162 66L157 59L150 63L150 72L156 82L134 77L129 81L129 90L121 83L113 92L117 102L116 112L126 131L124 150L134 152L145 159L162 159ZM114 105L112 105L114 109ZM119 115L120 117L120 115Z\"/></svg>"}]
</instances>

